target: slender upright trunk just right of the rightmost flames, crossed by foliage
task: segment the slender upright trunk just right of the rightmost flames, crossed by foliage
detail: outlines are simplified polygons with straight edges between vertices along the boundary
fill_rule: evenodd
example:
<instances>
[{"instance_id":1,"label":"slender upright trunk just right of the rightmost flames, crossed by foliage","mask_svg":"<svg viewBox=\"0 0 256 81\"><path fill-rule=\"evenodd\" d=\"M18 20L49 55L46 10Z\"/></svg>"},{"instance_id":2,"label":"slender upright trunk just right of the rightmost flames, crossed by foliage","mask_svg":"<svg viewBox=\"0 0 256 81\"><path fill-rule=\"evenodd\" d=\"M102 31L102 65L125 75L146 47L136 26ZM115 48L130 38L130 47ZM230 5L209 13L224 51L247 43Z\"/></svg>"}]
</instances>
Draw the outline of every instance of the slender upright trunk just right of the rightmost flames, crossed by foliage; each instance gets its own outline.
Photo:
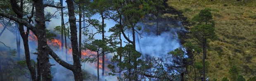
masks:
<instances>
[{"instance_id":1,"label":"slender upright trunk just right of the rightmost flames, crossed by foliage","mask_svg":"<svg viewBox=\"0 0 256 81\"><path fill-rule=\"evenodd\" d=\"M103 12L101 12L101 18L102 18L102 41L104 41L104 16ZM102 48L102 77L104 77L104 69L105 69L105 54L104 54L104 49Z\"/></svg>"}]
</instances>

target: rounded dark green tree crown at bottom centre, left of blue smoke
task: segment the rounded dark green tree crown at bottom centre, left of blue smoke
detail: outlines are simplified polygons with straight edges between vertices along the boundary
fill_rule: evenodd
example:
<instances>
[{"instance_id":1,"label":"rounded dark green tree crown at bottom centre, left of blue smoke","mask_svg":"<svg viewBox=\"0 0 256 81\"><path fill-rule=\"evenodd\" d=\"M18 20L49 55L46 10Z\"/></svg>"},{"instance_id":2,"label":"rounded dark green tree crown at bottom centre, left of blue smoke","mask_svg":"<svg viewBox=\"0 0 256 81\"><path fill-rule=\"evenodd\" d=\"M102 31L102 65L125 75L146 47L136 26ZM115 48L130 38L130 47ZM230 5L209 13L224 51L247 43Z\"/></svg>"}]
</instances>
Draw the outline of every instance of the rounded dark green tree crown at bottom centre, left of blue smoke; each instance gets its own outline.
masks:
<instances>
[{"instance_id":1,"label":"rounded dark green tree crown at bottom centre, left of blue smoke","mask_svg":"<svg viewBox=\"0 0 256 81\"><path fill-rule=\"evenodd\" d=\"M116 55L111 58L111 62L117 63L116 65L108 65L109 69L113 73L109 73L109 75L115 75L116 72L116 67L120 67L122 70L123 69L129 69L129 70L134 70L137 68L137 65L142 64L142 60L138 59L141 54L140 52L137 52L134 48L133 45L126 45L125 47L119 47L116 50ZM123 61L120 62L119 56L122 56ZM128 72L124 72L124 76L122 79L134 79L134 75L130 76L128 75Z\"/></svg>"}]
</instances>

